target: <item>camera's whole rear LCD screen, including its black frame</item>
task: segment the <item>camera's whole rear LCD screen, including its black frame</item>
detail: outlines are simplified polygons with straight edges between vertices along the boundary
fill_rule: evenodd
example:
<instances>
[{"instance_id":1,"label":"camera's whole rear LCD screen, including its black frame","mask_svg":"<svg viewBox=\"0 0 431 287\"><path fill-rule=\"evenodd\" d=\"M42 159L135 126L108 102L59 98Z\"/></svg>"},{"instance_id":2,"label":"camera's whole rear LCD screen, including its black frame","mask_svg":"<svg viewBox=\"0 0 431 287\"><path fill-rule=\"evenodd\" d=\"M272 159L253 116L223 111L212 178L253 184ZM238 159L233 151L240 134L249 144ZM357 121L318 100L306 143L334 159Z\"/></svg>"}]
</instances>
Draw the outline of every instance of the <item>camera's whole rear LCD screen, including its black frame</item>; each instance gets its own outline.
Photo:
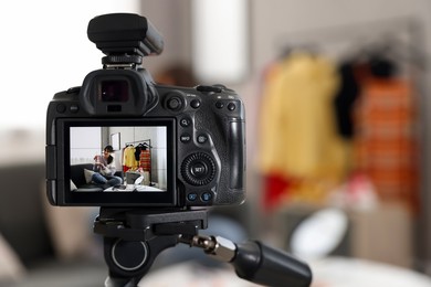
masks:
<instances>
[{"instance_id":1,"label":"camera's whole rear LCD screen, including its black frame","mask_svg":"<svg viewBox=\"0 0 431 287\"><path fill-rule=\"evenodd\" d=\"M170 205L172 119L65 121L65 201L88 205Z\"/></svg>"}]
</instances>

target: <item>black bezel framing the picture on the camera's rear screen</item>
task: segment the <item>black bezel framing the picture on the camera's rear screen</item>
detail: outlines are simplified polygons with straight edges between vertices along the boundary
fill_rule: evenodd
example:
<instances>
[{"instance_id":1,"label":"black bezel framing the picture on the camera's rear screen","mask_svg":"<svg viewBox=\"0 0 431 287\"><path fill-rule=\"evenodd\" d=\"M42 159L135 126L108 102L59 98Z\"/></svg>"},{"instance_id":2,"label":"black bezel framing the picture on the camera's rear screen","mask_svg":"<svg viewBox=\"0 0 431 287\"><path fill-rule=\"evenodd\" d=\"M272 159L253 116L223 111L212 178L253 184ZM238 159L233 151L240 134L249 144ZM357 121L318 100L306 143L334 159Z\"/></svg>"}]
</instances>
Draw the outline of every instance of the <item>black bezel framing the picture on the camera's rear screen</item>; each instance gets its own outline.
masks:
<instances>
[{"instance_id":1,"label":"black bezel framing the picture on the camera's rear screen","mask_svg":"<svg viewBox=\"0 0 431 287\"><path fill-rule=\"evenodd\" d=\"M71 191L71 128L72 127L166 127L167 128L167 190L161 192L76 192ZM176 129L175 118L109 118L109 119L59 119L57 166L59 200L64 205L86 206L176 206ZM63 145L59 145L63 142ZM62 196L63 195L63 196Z\"/></svg>"}]
</instances>

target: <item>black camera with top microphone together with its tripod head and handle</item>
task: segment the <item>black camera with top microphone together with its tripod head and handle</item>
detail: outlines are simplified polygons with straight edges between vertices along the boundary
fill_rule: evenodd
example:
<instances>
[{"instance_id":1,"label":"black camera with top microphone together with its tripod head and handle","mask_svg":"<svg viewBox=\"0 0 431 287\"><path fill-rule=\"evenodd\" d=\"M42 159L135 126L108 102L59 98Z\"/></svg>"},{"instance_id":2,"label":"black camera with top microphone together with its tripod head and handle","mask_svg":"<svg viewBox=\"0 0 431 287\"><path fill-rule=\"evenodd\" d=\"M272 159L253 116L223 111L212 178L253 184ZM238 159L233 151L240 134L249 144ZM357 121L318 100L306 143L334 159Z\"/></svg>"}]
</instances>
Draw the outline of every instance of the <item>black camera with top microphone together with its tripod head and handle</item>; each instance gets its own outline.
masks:
<instances>
[{"instance_id":1,"label":"black camera with top microphone together with its tripod head and handle","mask_svg":"<svg viewBox=\"0 0 431 287\"><path fill-rule=\"evenodd\" d=\"M178 244L269 286L309 286L309 267L260 242L199 235L208 209L244 201L245 110L223 85L156 84L143 59L164 41L144 17L104 14L88 39L105 56L82 86L56 93L46 115L46 192L53 205L101 206L105 286L137 286Z\"/></svg>"}]
</instances>

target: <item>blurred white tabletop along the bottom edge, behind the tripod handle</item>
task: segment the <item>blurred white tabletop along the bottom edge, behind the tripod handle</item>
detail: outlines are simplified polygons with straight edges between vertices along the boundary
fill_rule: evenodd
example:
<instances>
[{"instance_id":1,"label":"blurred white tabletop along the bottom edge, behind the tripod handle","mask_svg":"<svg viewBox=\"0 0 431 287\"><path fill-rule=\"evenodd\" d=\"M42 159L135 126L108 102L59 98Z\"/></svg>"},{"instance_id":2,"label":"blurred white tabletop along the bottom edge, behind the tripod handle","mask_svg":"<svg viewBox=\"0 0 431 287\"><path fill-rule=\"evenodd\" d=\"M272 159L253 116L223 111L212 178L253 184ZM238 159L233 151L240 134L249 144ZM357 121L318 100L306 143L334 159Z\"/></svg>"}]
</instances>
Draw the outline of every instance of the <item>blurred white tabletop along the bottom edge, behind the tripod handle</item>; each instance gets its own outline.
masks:
<instances>
[{"instance_id":1,"label":"blurred white tabletop along the bottom edge, behind the tripod handle","mask_svg":"<svg viewBox=\"0 0 431 287\"><path fill-rule=\"evenodd\" d=\"M229 266L229 265L227 265ZM431 279L422 274L369 261L330 257L311 264L312 287L430 287ZM149 273L140 287L245 287L257 286L236 277L233 269L203 268L182 263Z\"/></svg>"}]
</instances>

